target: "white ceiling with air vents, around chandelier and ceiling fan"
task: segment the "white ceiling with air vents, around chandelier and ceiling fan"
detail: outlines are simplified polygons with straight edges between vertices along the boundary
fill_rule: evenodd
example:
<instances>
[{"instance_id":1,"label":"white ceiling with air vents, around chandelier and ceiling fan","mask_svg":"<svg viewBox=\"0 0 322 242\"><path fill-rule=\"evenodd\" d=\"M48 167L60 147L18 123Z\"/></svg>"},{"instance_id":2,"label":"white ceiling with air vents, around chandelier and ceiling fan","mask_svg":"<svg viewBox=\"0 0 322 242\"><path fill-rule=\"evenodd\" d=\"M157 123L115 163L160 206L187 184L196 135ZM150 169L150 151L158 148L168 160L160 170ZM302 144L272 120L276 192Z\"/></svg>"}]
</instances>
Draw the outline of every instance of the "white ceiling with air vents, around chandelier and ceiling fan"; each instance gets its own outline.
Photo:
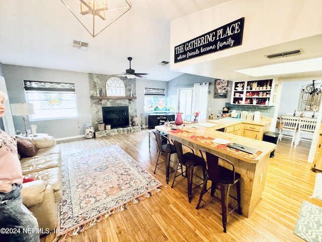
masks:
<instances>
[{"instance_id":1,"label":"white ceiling with air vents, around chandelier and ceiling fan","mask_svg":"<svg viewBox=\"0 0 322 242\"><path fill-rule=\"evenodd\" d=\"M131 67L149 80L169 81L183 73L227 80L249 79L235 70L322 56L322 36L216 59L170 71L170 21L229 0L131 0L132 8L93 38L60 0L2 1L0 62L83 73L119 74ZM72 47L89 43L88 50ZM263 55L302 48L304 55L269 60ZM243 61L240 61L243 60ZM282 79L322 77L322 71L283 74ZM271 78L271 76L269 77ZM258 79L258 78L257 78Z\"/></svg>"}]
</instances>

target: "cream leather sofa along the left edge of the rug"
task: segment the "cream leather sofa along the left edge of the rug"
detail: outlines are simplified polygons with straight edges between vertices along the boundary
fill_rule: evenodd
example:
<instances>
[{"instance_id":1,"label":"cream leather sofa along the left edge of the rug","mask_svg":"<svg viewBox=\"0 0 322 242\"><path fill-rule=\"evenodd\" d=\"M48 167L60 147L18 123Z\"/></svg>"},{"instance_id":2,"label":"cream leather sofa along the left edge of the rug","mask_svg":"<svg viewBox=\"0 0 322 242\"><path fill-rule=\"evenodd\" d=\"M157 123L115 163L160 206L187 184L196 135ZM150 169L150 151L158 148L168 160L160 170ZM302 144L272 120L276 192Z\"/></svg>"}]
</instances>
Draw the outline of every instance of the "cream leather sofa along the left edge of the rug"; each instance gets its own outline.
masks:
<instances>
[{"instance_id":1,"label":"cream leather sofa along the left edge of the rug","mask_svg":"<svg viewBox=\"0 0 322 242\"><path fill-rule=\"evenodd\" d=\"M52 231L58 224L59 201L62 199L60 147L52 136L24 139L28 139L38 151L33 157L20 159L23 175L35 179L23 184L22 201L37 218L39 228Z\"/></svg>"}]
</instances>

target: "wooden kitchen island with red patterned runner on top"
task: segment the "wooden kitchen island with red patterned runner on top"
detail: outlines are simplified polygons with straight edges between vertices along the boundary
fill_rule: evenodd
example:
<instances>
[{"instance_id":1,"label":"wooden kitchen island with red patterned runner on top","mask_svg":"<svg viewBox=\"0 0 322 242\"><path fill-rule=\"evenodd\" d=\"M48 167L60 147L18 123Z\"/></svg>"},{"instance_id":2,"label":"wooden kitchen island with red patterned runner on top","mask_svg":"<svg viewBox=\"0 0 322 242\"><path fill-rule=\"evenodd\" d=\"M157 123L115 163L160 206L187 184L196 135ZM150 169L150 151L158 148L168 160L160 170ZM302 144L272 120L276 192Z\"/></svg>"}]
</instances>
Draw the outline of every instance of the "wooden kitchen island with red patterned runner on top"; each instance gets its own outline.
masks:
<instances>
[{"instance_id":1,"label":"wooden kitchen island with red patterned runner on top","mask_svg":"<svg viewBox=\"0 0 322 242\"><path fill-rule=\"evenodd\" d=\"M170 140L178 140L190 146L194 149L195 154L199 156L201 156L199 149L202 148L230 160L235 165L236 172L241 175L241 211L245 216L249 217L261 201L270 153L275 149L276 145L216 130L222 128L223 125L212 128L197 127L197 129L184 127L183 129L172 130L169 126L156 126L155 129L169 134ZM226 145L214 143L212 140L216 138L257 148L259 151L254 155L237 151ZM196 172L202 174L201 170ZM235 197L236 191L231 189L230 194ZM235 201L230 199L230 202L234 205Z\"/></svg>"}]
</instances>

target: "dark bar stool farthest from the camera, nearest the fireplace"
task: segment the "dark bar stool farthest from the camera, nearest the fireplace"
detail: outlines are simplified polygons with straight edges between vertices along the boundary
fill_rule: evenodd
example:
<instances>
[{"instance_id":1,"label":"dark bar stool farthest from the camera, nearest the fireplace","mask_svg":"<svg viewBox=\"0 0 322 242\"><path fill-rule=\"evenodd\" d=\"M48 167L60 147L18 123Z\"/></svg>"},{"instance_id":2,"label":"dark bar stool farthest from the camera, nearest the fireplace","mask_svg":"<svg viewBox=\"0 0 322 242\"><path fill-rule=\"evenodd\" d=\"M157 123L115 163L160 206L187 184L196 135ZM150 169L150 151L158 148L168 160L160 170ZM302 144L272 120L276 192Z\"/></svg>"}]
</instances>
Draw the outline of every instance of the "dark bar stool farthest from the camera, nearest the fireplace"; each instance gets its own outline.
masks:
<instances>
[{"instance_id":1,"label":"dark bar stool farthest from the camera, nearest the fireplace","mask_svg":"<svg viewBox=\"0 0 322 242\"><path fill-rule=\"evenodd\" d=\"M157 144L157 149L158 149L158 153L157 153L157 158L156 158L156 164L155 164L155 168L154 168L154 174L156 171L156 167L159 164L162 164L164 162L166 162L166 179L167 179L167 184L169 183L169 170L170 170L170 156L174 153L177 153L176 147L171 144L170 140L158 133L157 131L153 131L154 135L155 135L155 139L156 139L156 144ZM163 139L167 141L167 144L163 144ZM165 156L165 160L163 162L158 163L159 157L161 155Z\"/></svg>"}]
</instances>

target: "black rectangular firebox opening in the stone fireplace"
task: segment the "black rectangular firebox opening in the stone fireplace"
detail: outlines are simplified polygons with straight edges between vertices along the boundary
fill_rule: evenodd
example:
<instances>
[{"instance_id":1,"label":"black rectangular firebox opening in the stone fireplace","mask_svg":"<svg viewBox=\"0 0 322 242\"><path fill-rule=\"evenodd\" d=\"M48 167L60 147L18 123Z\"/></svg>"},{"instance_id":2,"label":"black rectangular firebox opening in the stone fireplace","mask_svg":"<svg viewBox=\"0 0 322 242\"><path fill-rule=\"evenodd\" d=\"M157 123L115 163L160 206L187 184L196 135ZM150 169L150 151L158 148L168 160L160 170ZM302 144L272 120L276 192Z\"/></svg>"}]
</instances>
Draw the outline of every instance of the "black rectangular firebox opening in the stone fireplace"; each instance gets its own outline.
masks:
<instances>
[{"instance_id":1,"label":"black rectangular firebox opening in the stone fireplace","mask_svg":"<svg viewBox=\"0 0 322 242\"><path fill-rule=\"evenodd\" d=\"M111 125L111 129L125 128L129 126L128 106L102 107L102 110L103 122L106 125Z\"/></svg>"}]
</instances>

